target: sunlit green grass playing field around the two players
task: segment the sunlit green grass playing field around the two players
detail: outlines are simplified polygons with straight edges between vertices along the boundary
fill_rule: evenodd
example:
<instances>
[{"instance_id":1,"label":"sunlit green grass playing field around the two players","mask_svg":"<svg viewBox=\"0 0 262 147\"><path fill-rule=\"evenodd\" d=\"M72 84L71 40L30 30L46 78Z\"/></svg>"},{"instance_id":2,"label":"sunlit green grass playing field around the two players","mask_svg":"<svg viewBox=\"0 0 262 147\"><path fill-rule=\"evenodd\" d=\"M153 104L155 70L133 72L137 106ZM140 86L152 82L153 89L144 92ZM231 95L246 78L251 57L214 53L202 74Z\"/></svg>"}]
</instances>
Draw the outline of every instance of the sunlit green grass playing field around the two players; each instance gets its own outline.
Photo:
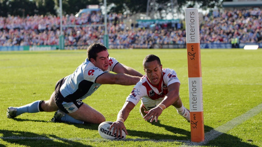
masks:
<instances>
[{"instance_id":1,"label":"sunlit green grass playing field around the two players","mask_svg":"<svg viewBox=\"0 0 262 147\"><path fill-rule=\"evenodd\" d=\"M148 54L160 57L181 81L180 97L189 108L187 50L109 50L120 63L143 72ZM49 122L54 112L6 117L7 107L47 100L56 82L71 74L86 58L85 50L0 52L0 147L4 146L262 146L262 50L201 49L205 141L191 142L190 123L174 107L157 123L144 121L139 105L125 126L125 140L102 139L98 125ZM102 85L85 103L115 121L133 86Z\"/></svg>"}]
</instances>

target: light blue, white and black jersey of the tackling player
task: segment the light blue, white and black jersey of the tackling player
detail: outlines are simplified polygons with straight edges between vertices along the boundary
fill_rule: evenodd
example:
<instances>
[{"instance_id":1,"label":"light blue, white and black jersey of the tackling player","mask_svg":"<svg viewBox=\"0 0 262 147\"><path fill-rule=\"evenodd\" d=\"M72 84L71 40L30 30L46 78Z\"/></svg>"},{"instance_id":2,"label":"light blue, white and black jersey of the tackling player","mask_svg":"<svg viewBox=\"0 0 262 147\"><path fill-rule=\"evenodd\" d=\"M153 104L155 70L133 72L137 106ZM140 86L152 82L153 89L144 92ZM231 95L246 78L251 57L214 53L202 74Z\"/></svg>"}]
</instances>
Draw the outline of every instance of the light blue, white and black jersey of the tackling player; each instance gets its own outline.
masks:
<instances>
[{"instance_id":1,"label":"light blue, white and black jersey of the tackling player","mask_svg":"<svg viewBox=\"0 0 262 147\"><path fill-rule=\"evenodd\" d=\"M103 73L113 71L119 63L115 58L109 57L109 67L106 71L95 67L88 59L77 67L74 73L65 77L65 83L61 85L60 92L63 97L71 101L83 100L96 91L101 84L95 83L97 77Z\"/></svg>"}]
</instances>

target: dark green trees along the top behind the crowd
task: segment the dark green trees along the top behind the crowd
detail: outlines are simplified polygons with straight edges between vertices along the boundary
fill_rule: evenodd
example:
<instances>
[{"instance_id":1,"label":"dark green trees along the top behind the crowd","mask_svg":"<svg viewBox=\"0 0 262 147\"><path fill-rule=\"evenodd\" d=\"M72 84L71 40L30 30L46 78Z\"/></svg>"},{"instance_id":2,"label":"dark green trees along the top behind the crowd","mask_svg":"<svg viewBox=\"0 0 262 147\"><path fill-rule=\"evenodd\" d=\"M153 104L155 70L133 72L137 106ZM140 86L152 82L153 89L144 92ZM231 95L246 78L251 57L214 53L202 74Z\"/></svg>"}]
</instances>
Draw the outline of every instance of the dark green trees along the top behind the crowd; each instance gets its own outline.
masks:
<instances>
[{"instance_id":1,"label":"dark green trees along the top behind the crowd","mask_svg":"<svg viewBox=\"0 0 262 147\"><path fill-rule=\"evenodd\" d=\"M147 0L106 0L108 13L127 13L129 15L146 12ZM104 0L62 0L63 15L76 14L80 9L86 8L87 5L104 5ZM153 1L152 1L153 2ZM157 6L157 11L165 10L170 7L170 0L154 0L152 3ZM175 1L173 1L175 2ZM186 0L173 3L174 6L194 7L196 3L201 3L201 8L221 7L219 0L195 0L188 2ZM0 1L0 16L7 17L8 15L25 17L27 15L59 15L59 0L1 0Z\"/></svg>"}]
</instances>

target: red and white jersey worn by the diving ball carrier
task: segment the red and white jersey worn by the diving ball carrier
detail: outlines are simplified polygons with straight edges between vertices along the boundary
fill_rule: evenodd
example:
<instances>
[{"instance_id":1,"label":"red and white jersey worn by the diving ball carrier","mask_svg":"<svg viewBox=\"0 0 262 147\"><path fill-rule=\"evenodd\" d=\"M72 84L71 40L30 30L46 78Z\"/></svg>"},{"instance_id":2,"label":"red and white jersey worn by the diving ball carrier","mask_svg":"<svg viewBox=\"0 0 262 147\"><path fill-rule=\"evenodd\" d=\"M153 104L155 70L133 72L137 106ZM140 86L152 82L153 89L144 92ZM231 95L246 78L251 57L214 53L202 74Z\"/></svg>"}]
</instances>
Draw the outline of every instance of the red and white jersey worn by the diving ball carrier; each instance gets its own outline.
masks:
<instances>
[{"instance_id":1,"label":"red and white jersey worn by the diving ball carrier","mask_svg":"<svg viewBox=\"0 0 262 147\"><path fill-rule=\"evenodd\" d=\"M147 110L156 107L167 94L167 87L172 83L180 83L177 73L173 69L164 68L162 75L158 86L152 85L146 75L144 75L126 98L126 101L137 105L141 99L143 106Z\"/></svg>"}]
</instances>

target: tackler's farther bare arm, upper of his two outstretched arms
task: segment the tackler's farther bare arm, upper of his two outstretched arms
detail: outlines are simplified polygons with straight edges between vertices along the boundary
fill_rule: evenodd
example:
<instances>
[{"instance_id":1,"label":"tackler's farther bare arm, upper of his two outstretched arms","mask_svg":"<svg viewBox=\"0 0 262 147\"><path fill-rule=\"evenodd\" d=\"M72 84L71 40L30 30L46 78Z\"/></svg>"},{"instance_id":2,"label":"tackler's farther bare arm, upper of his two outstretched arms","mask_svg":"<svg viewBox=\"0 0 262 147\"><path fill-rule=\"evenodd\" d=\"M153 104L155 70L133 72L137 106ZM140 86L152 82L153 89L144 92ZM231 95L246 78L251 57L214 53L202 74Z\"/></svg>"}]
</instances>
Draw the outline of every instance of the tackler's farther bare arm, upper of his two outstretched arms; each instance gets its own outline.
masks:
<instances>
[{"instance_id":1,"label":"tackler's farther bare arm, upper of his two outstretched arms","mask_svg":"<svg viewBox=\"0 0 262 147\"><path fill-rule=\"evenodd\" d=\"M128 67L124 64L116 64L113 71L115 73L126 73L132 76L138 76L138 77L142 77L143 75L141 73L139 73L138 71L136 71L135 69Z\"/></svg>"}]
</instances>

